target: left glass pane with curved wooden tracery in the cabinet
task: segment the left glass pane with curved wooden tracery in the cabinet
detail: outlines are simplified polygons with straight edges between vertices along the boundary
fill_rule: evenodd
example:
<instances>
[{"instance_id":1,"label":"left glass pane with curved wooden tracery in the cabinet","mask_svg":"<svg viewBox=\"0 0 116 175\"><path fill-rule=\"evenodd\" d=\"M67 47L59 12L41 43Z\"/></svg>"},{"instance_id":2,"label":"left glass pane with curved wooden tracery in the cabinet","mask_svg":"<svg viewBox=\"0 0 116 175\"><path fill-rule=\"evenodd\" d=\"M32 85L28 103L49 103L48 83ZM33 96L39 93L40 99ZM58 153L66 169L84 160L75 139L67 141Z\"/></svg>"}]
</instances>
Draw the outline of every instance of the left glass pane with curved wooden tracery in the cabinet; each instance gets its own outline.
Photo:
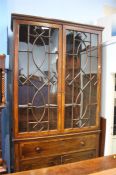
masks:
<instances>
[{"instance_id":1,"label":"left glass pane with curved wooden tracery in the cabinet","mask_svg":"<svg viewBox=\"0 0 116 175\"><path fill-rule=\"evenodd\" d=\"M58 29L20 25L19 132L57 129Z\"/></svg>"}]
</instances>

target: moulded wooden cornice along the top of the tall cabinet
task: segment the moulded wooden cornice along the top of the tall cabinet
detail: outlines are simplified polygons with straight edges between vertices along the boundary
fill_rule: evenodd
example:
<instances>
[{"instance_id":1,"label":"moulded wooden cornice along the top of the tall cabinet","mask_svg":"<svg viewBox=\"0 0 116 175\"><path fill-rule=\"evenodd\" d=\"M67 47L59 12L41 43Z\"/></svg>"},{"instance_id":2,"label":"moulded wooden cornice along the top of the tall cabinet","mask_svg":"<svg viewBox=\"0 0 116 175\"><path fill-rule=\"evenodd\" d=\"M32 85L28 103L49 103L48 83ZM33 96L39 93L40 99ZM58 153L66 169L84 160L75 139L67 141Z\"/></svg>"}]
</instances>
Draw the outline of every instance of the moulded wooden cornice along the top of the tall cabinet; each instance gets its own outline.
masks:
<instances>
[{"instance_id":1,"label":"moulded wooden cornice along the top of the tall cabinet","mask_svg":"<svg viewBox=\"0 0 116 175\"><path fill-rule=\"evenodd\" d=\"M60 25L71 25L71 26L76 26L76 27L83 27L86 29L94 29L97 31L102 31L104 29L104 27L96 26L96 25L88 25L88 24L76 23L76 22L71 22L71 21L43 18L43 17L38 17L38 16L30 16L30 15L16 14L16 13L11 14L11 29L13 29L13 20L57 23Z\"/></svg>"}]
</instances>

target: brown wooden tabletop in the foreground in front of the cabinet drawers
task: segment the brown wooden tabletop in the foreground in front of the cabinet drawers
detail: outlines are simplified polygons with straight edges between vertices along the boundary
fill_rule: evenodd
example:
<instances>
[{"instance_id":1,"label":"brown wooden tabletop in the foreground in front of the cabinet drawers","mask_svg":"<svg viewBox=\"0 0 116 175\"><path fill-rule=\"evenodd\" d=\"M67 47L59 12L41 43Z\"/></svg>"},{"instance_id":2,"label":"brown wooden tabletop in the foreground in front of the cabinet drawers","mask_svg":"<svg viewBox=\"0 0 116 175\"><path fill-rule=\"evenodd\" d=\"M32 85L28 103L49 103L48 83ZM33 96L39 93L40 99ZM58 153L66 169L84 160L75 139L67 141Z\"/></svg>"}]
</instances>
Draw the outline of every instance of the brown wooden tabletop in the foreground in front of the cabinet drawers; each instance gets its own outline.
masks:
<instances>
[{"instance_id":1,"label":"brown wooden tabletop in the foreground in front of the cabinet drawers","mask_svg":"<svg viewBox=\"0 0 116 175\"><path fill-rule=\"evenodd\" d=\"M115 155L99 157L99 158L80 161L76 163L53 166L53 167L42 168L37 170L17 172L9 175L86 175L86 174L97 175L98 173L104 173L102 172L104 170L115 171L115 175L116 175L116 156ZM96 172L97 174L92 174ZM111 175L111 173L109 174ZM98 174L98 175L102 175L102 174ZM107 175L107 173L105 175Z\"/></svg>"}]
</instances>

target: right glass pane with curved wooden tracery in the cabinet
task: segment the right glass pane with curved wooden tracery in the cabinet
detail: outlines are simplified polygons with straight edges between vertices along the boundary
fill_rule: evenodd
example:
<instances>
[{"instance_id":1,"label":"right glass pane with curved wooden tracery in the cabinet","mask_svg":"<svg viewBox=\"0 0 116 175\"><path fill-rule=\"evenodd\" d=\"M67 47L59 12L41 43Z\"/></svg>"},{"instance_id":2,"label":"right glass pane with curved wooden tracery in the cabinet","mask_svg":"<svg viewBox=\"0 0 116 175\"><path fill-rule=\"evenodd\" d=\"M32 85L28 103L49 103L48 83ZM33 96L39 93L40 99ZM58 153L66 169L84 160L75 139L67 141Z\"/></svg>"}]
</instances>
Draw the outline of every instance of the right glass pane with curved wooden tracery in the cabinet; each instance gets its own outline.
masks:
<instances>
[{"instance_id":1,"label":"right glass pane with curved wooden tracery in the cabinet","mask_svg":"<svg viewBox=\"0 0 116 175\"><path fill-rule=\"evenodd\" d=\"M96 34L66 30L65 128L96 124Z\"/></svg>"}]
</instances>

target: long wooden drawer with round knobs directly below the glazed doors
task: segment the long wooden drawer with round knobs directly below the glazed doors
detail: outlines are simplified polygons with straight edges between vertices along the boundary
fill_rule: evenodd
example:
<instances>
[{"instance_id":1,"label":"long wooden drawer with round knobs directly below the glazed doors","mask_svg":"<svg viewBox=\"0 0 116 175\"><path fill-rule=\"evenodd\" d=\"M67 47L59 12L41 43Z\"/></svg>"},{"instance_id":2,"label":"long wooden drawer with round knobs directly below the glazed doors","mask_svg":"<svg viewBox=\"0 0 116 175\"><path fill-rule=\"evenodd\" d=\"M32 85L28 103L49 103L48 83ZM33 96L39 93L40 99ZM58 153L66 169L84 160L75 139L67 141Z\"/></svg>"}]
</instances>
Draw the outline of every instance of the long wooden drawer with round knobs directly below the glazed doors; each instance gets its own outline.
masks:
<instances>
[{"instance_id":1,"label":"long wooden drawer with round knobs directly below the glazed doors","mask_svg":"<svg viewBox=\"0 0 116 175\"><path fill-rule=\"evenodd\" d=\"M97 147L97 142L97 134L45 141L23 142L20 143L20 158L49 157L65 154L67 152L76 152L76 150L84 151L95 149Z\"/></svg>"}]
</instances>

